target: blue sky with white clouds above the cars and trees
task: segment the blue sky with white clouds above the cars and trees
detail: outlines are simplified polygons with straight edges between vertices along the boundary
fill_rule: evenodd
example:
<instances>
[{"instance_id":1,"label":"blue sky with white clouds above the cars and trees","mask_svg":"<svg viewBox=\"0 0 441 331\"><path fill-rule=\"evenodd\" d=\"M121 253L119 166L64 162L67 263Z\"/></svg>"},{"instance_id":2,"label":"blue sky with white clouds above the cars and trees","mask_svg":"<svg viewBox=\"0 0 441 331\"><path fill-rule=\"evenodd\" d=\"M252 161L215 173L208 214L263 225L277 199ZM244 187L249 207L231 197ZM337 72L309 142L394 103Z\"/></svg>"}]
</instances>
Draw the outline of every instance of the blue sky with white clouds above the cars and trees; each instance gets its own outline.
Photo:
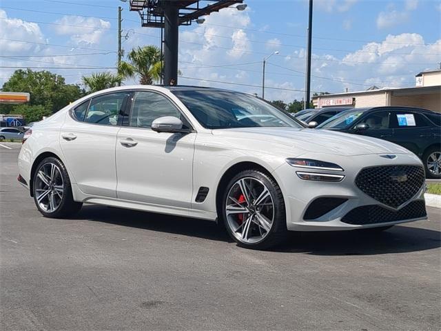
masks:
<instances>
[{"instance_id":1,"label":"blue sky with white clouds above the cars and trees","mask_svg":"<svg viewBox=\"0 0 441 331\"><path fill-rule=\"evenodd\" d=\"M265 97L302 99L307 1L244 3L243 12L230 8L205 17L201 25L181 27L179 67L188 78L179 83L260 94L263 57L278 50L267 64ZM117 6L124 8L126 52L159 46L159 30L141 28L138 14L121 1L0 4L2 67L55 67L48 70L69 83L81 83L83 74L113 71ZM440 17L441 1L315 0L311 90L414 86L415 74L438 68L441 61ZM0 70L3 83L15 68Z\"/></svg>"}]
</instances>

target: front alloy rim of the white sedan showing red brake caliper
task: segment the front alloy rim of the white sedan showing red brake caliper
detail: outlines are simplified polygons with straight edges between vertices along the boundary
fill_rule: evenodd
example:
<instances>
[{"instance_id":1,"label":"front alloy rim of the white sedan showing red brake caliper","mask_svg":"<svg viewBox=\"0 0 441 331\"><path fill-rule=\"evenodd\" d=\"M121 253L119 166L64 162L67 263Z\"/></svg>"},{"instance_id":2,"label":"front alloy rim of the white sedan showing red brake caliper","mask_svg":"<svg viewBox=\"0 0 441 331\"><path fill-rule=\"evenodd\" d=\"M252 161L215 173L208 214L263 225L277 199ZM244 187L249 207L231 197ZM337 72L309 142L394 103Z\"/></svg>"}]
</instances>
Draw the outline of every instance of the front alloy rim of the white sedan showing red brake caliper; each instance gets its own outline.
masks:
<instances>
[{"instance_id":1,"label":"front alloy rim of the white sedan showing red brake caliper","mask_svg":"<svg viewBox=\"0 0 441 331\"><path fill-rule=\"evenodd\" d=\"M274 223L274 201L267 186L253 177L238 179L227 194L227 223L242 243L258 243Z\"/></svg>"}]
</instances>

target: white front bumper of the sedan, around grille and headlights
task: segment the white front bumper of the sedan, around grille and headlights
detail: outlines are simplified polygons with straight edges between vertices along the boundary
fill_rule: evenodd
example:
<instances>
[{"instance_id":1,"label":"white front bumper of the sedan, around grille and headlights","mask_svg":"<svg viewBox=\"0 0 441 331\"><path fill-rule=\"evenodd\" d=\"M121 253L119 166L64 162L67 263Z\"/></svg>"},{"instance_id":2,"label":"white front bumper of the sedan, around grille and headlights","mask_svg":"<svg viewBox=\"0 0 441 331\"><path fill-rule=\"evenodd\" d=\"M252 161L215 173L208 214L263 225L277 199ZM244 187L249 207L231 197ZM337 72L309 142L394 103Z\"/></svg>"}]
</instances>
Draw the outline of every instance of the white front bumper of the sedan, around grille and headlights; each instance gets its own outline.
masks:
<instances>
[{"instance_id":1,"label":"white front bumper of the sedan, around grille and headlights","mask_svg":"<svg viewBox=\"0 0 441 331\"><path fill-rule=\"evenodd\" d=\"M304 156L302 156L304 157ZM418 165L422 166L420 160L413 154L398 154L394 160L388 160L379 157L378 154L368 154L351 157L333 157L329 156L323 160L321 155L308 155L310 159L319 159L336 163L345 170L344 172L333 172L323 170L311 170L314 172L328 174L344 174L345 178L337 183L325 181L307 181L298 178L296 171L305 170L293 167L289 164L283 164L274 171L274 177L280 184L285 197L285 208L287 213L287 229L292 231L331 231L331 230L355 230L360 228L376 228L385 225L393 225L398 223L417 221L427 219L424 208L424 191L425 185L422 185L419 192L409 201L401 205L399 208L391 208L373 199L369 195L362 192L355 184L355 179L362 168L367 166L380 165ZM331 209L329 212L320 215L314 219L305 217L309 205L317 198L340 198L345 202ZM420 201L420 202L413 202ZM411 208L409 204L422 205L424 212L418 210L418 213L407 213L403 208ZM409 206L408 206L409 205ZM365 206L365 208L361 208ZM353 212L353 210L369 210L369 207L376 208L376 219L369 219L361 212ZM407 207L408 206L408 207ZM359 208L359 209L356 209ZM378 208L384 210L384 213L378 212ZM351 214L349 214L351 212ZM348 215L348 216L347 216ZM404 215L404 216L402 216ZM407 218L410 215L410 218ZM412 217L416 215L416 217ZM345 217L346 216L346 217ZM404 217L404 219L403 219ZM360 221L358 221L360 219ZM349 220L349 221L348 221ZM391 221L392 220L392 221Z\"/></svg>"}]
</instances>

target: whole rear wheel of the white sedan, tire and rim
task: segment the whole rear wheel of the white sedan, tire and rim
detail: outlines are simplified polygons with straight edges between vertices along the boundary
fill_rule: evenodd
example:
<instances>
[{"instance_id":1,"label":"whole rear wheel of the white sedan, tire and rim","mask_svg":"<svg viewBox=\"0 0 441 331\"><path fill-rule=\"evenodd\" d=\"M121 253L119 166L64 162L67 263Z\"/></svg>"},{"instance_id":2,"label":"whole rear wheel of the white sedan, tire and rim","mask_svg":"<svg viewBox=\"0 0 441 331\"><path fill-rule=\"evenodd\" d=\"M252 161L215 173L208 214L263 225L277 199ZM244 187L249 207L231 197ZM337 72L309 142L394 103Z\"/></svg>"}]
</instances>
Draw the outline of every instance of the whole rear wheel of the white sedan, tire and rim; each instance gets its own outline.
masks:
<instances>
[{"instance_id":1,"label":"whole rear wheel of the white sedan, tire and rim","mask_svg":"<svg viewBox=\"0 0 441 331\"><path fill-rule=\"evenodd\" d=\"M32 190L35 204L44 217L68 217L83 205L74 201L68 172L55 157L47 157L37 165Z\"/></svg>"}]
</instances>

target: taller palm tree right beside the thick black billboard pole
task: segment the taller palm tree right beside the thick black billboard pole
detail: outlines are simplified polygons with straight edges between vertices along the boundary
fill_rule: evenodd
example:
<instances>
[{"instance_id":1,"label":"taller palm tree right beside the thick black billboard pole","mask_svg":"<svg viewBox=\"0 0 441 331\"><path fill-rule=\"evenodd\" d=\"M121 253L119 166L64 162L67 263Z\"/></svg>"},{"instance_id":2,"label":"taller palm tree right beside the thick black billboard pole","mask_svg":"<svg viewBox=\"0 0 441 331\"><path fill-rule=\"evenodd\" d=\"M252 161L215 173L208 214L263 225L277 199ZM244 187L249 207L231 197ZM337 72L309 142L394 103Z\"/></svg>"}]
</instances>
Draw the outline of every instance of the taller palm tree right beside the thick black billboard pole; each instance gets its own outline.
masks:
<instances>
[{"instance_id":1,"label":"taller palm tree right beside the thick black billboard pole","mask_svg":"<svg viewBox=\"0 0 441 331\"><path fill-rule=\"evenodd\" d=\"M150 85L161 78L161 51L156 46L134 48L127 54L130 62L121 61L121 77L139 77L141 85Z\"/></svg>"}]
</instances>

